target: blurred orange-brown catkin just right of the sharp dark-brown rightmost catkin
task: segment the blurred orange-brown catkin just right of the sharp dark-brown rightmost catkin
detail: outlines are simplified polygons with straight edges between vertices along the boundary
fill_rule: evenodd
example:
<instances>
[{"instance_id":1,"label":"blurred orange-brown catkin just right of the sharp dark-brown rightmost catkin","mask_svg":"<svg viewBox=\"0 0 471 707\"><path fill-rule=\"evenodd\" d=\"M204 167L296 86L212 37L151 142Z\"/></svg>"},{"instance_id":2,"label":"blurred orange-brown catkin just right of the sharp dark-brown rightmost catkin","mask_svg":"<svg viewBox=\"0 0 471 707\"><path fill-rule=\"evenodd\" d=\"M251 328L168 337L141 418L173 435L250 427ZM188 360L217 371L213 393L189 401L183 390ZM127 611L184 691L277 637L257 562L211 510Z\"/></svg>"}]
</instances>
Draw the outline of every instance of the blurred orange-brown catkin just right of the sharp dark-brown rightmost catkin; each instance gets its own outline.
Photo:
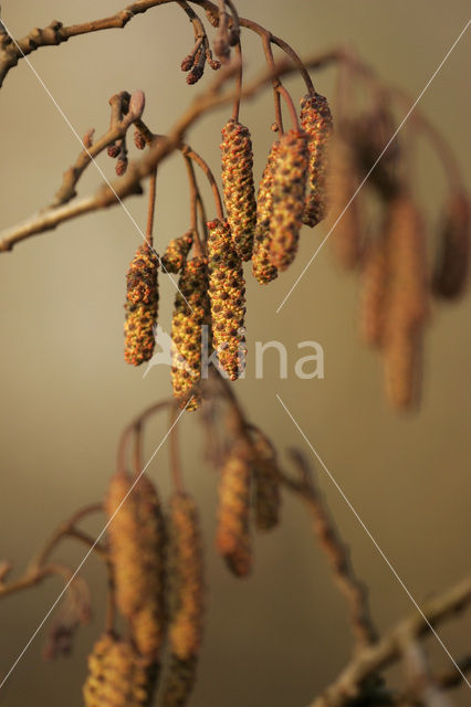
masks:
<instances>
[{"instance_id":1,"label":"blurred orange-brown catkin just right of the sharp dark-brown rightmost catkin","mask_svg":"<svg viewBox=\"0 0 471 707\"><path fill-rule=\"evenodd\" d=\"M346 270L353 270L362 263L364 254L358 197L349 203L358 188L358 176L352 148L341 137L331 140L328 170L327 229L333 229L331 246L338 263Z\"/></svg>"}]
</instances>

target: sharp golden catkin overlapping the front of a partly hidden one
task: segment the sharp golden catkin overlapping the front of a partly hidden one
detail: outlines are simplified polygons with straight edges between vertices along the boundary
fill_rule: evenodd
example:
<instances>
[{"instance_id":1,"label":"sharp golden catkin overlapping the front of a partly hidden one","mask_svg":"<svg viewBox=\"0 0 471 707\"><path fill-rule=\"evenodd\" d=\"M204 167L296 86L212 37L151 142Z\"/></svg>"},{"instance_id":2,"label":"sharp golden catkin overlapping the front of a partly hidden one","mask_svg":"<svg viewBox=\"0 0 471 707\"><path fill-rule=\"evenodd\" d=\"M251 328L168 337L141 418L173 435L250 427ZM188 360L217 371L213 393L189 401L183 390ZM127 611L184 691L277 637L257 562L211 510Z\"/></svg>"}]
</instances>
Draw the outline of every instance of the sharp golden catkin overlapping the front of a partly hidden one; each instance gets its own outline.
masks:
<instances>
[{"instance_id":1,"label":"sharp golden catkin overlapping the front of a partly hidden one","mask_svg":"<svg viewBox=\"0 0 471 707\"><path fill-rule=\"evenodd\" d=\"M280 138L273 173L270 261L284 271L297 252L307 177L307 136L291 129Z\"/></svg>"}]
</instances>

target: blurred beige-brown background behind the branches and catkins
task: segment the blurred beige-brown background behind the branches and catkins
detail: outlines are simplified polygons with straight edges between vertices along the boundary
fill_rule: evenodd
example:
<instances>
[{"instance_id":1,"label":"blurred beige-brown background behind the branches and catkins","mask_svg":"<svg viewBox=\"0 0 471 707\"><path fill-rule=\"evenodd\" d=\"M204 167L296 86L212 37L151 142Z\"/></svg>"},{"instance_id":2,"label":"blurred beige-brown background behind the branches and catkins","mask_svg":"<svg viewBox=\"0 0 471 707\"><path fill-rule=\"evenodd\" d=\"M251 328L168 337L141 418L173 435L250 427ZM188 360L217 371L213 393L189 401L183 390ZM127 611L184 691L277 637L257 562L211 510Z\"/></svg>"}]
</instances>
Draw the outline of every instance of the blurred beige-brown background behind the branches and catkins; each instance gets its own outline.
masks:
<instances>
[{"instance_id":1,"label":"blurred beige-brown background behind the branches and catkins","mask_svg":"<svg viewBox=\"0 0 471 707\"><path fill-rule=\"evenodd\" d=\"M74 23L121 9L118 0L4 0L2 17L14 35L56 18ZM249 15L284 36L303 55L347 42L386 80L418 95L464 27L465 0L240 0ZM247 34L247 33L244 33ZM469 169L465 147L471 102L465 88L470 38L464 36L421 101ZM143 88L147 120L164 133L190 97L209 81L188 87L179 63L192 44L184 13L172 6L136 18L124 32L108 31L43 49L31 61L82 135L100 134L108 119L107 99L121 89ZM261 65L258 40L245 39L249 74ZM209 70L208 70L209 71ZM316 87L333 95L331 72ZM287 82L293 96L301 83ZM7 228L48 203L62 172L78 150L76 138L23 61L0 93L0 226ZM260 176L272 139L270 92L243 106ZM188 140L218 170L220 128L227 110L202 119ZM419 152L420 197L433 220L444 182L433 155ZM113 165L101 160L107 175ZM469 172L468 172L469 176ZM86 193L100 177L92 167ZM145 200L127 202L144 228ZM208 200L211 215L210 201ZM188 226L187 186L179 159L167 162L158 184L157 243ZM469 571L469 321L471 299L437 306L427 336L426 384L419 415L387 409L379 361L358 342L358 282L333 264L325 247L276 315L275 308L301 273L325 230L305 230L301 252L270 287L248 286L249 351L254 341L279 339L290 356L287 380L279 380L275 356L266 356L265 377L255 380L253 356L237 392L280 450L308 450L275 399L279 392L379 546L420 602ZM118 434L132 415L169 394L168 370L143 371L123 362L124 276L139 234L116 208L62 225L0 255L2 303L0 558L20 572L52 527L77 506L103 497L114 468ZM158 246L159 247L159 246ZM161 278L163 281L163 278ZM169 330L174 289L161 282L160 323ZM314 339L325 351L325 379L300 381L293 374L296 342ZM270 359L270 362L269 362ZM147 456L160 442L167 421L151 425ZM253 577L229 577L213 552L214 475L200 462L201 428L182 422L186 477L196 494L207 532L208 624L195 707L303 707L339 671L350 637L345 606L332 588L310 520L296 499L286 498L284 523L258 537ZM196 452L198 450L198 452ZM150 467L168 494L167 447ZM322 486L352 546L358 573L370 587L375 618L386 629L414 606L359 527L325 473ZM90 523L98 531L101 521ZM57 553L72 566L83 548L64 545ZM104 574L91 558L85 574L95 592L95 621L78 636L71 659L45 664L40 657L44 630L0 692L0 705L81 704L85 656L102 627ZM54 580L0 603L0 675L9 669L55 599ZM453 656L469 650L470 619L440 635ZM429 642L438 666L448 658ZM468 704L468 693L453 696Z\"/></svg>"}]
</instances>

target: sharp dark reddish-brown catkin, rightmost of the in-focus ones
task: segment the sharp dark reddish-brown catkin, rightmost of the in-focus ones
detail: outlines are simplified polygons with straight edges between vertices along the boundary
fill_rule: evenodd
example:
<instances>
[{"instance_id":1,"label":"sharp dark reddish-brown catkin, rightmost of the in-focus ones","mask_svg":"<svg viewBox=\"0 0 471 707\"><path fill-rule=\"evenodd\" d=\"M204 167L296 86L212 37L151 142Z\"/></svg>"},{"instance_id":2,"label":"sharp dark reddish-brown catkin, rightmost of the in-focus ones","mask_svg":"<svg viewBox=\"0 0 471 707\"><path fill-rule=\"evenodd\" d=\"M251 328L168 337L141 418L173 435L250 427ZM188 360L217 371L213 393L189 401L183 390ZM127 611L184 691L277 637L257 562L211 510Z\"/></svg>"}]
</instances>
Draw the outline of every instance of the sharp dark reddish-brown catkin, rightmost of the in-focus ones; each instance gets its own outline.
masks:
<instances>
[{"instance_id":1,"label":"sharp dark reddish-brown catkin, rightmost of the in-focus ones","mask_svg":"<svg viewBox=\"0 0 471 707\"><path fill-rule=\"evenodd\" d=\"M308 136L308 191L304 201L303 223L315 226L326 212L327 146L333 120L327 98L307 94L301 102L301 126Z\"/></svg>"}]
</instances>

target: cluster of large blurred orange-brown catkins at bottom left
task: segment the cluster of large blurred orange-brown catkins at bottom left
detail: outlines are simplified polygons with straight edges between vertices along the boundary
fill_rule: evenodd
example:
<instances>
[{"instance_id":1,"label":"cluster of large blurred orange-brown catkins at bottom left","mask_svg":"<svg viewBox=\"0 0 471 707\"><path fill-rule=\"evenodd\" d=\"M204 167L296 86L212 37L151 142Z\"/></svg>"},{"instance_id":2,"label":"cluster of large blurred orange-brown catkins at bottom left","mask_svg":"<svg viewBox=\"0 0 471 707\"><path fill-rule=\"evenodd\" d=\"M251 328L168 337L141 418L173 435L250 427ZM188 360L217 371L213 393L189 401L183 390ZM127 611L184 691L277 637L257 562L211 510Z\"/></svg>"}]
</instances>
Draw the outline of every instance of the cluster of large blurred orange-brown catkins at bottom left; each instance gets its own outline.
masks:
<instances>
[{"instance_id":1,"label":"cluster of large blurred orange-brown catkins at bottom left","mask_svg":"<svg viewBox=\"0 0 471 707\"><path fill-rule=\"evenodd\" d=\"M106 499L108 552L117 609L128 635L103 634L88 658L86 707L144 707L157 689L164 645L169 662L163 707L184 707L202 634L203 570L191 497L176 493L164 516L154 484L116 473Z\"/></svg>"}]
</instances>

